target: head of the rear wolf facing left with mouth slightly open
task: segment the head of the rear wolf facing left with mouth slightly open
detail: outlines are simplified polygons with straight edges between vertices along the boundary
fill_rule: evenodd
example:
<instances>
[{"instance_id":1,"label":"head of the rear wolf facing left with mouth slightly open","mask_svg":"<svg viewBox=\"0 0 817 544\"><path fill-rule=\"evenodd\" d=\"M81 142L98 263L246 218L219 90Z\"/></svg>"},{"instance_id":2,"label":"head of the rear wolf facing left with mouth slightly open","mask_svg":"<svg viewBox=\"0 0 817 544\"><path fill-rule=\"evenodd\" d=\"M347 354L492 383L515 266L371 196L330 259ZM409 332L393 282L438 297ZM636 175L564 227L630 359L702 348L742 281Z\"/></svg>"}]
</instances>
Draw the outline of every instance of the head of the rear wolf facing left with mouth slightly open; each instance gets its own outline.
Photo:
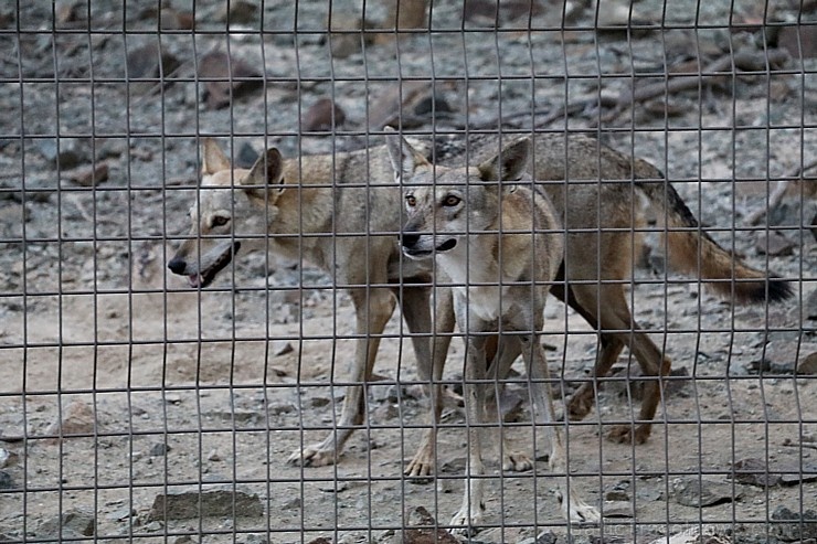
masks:
<instances>
[{"instance_id":1,"label":"head of the rear wolf facing left with mouth slightly open","mask_svg":"<svg viewBox=\"0 0 817 544\"><path fill-rule=\"evenodd\" d=\"M191 287L206 287L240 249L264 247L267 225L283 179L283 159L270 148L252 169L233 168L219 145L202 142L202 168L195 201L190 206L190 236L168 268L187 276Z\"/></svg>"}]
</instances>

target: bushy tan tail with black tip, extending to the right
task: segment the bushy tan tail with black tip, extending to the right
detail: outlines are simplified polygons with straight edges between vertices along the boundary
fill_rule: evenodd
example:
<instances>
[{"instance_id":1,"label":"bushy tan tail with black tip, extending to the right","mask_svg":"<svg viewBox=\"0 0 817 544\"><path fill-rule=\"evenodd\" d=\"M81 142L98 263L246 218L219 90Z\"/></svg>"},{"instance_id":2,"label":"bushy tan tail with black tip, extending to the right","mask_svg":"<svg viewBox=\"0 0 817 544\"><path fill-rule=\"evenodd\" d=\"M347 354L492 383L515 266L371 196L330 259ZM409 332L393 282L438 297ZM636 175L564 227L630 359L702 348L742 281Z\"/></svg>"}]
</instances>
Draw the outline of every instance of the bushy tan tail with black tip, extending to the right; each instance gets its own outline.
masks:
<instances>
[{"instance_id":1,"label":"bushy tan tail with black tip, extending to the right","mask_svg":"<svg viewBox=\"0 0 817 544\"><path fill-rule=\"evenodd\" d=\"M672 184L661 179L660 171L641 162L636 166L636 177L654 180L636 184L657 207L659 221L666 222L667 262L675 270L699 277L714 292L738 303L774 302L793 295L788 281L767 277L718 245L701 230Z\"/></svg>"}]
</instances>

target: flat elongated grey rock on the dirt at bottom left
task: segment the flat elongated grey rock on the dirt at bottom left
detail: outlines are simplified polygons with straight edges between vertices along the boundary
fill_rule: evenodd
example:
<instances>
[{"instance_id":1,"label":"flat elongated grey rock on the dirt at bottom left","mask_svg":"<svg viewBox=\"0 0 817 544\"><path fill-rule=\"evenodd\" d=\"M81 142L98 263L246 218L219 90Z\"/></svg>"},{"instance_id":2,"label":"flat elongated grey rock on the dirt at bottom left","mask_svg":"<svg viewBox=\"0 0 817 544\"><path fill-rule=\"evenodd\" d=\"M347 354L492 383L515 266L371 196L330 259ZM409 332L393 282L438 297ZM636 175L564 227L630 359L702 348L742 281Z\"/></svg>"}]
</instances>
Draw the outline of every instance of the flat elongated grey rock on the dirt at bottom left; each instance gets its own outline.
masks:
<instances>
[{"instance_id":1,"label":"flat elongated grey rock on the dirt at bottom left","mask_svg":"<svg viewBox=\"0 0 817 544\"><path fill-rule=\"evenodd\" d=\"M197 518L261 518L264 505L256 493L209 489L160 493L153 499L150 521L194 520Z\"/></svg>"}]
</instances>

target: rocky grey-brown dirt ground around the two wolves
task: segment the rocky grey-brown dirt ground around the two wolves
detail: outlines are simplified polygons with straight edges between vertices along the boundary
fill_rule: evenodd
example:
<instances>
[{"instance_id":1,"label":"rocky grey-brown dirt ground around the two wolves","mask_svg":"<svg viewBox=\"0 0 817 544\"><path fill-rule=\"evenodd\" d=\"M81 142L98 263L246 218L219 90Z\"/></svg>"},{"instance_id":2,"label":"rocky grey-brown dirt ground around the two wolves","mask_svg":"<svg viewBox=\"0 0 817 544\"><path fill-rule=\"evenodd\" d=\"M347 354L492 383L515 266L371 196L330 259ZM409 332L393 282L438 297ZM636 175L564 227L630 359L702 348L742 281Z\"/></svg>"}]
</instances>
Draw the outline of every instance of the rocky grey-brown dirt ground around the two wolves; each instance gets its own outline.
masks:
<instances>
[{"instance_id":1,"label":"rocky grey-brown dirt ground around the two wolves","mask_svg":"<svg viewBox=\"0 0 817 544\"><path fill-rule=\"evenodd\" d=\"M413 509L424 506L445 524L459 506L467 444L454 395L439 433L437 477L415 483L402 476L426 404L399 316L379 352L382 380L368 387L369 419L340 462L286 463L298 447L326 436L339 414L356 332L351 302L308 264L275 256L244 256L201 291L166 271L179 243L173 236L188 228L198 134L231 141L236 154L272 145L288 156L358 147L358 136L298 138L299 119L319 98L333 97L346 111L340 128L363 130L367 106L399 76L454 82L439 89L437 99L453 111L435 130L458 128L466 117L496 127L499 109L554 111L616 97L633 78L662 79L667 66L690 62L696 51L711 60L731 50L763 52L776 40L772 26L749 24L763 21L754 2L681 0L662 15L664 4L644 0L634 13L645 24L662 20L667 30L628 34L612 26L594 32L592 7L572 15L577 30L560 31L562 7L550 0L534 2L542 10L530 21L548 30L528 32L521 17L503 20L502 32L486 32L485 19L464 23L461 2L447 0L434 2L435 32L401 42L396 63L394 43L332 57L319 32L326 2L264 2L263 39L256 11L227 40L221 2L205 0L195 2L195 33L161 35L163 51L179 61L167 85L138 86L125 79L125 67L134 66L127 56L156 42L157 2L120 3L0 8L0 541L55 541L62 524L66 537L105 542L400 542ZM188 3L172 8L183 14L193 10ZM380 4L367 6L367 18L383 17ZM616 4L602 6L600 18L615 22ZM777 31L797 20L788 3L768 6ZM358 2L343 7L361 13ZM88 17L92 33L83 26ZM800 17L815 21L817 11L804 8ZM693 32L696 21L707 23ZM730 31L730 22L746 28ZM294 38L296 26L301 33ZM208 107L193 60L215 49L263 70L267 83L231 108ZM573 482L604 504L604 525L565 526L541 457L534 472L502 473L490 456L486 526L473 541L517 543L549 532L537 542L693 540L697 531L732 542L817 537L815 521L795 531L778 520L782 508L806 518L817 510L817 371L793 374L817 352L808 185L758 226L747 220L765 205L774 180L796 177L814 160L816 74L815 58L789 57L614 115L611 107L573 108L540 127L591 129L618 149L635 146L713 237L789 279L795 297L733 307L693 279L662 281L659 256L647 259L650 268L635 270L630 303L677 372L654 434L636 447L602 438L638 409L623 380L626 352L617 375L600 383L596 409L566 427ZM529 130L530 116L510 126ZM417 128L428 131L432 122ZM77 182L74 167L94 161L107 166L107 179ZM814 172L806 171L810 183ZM767 247L770 227L778 236ZM596 335L555 300L545 317L554 390L569 395L592 367ZM455 341L446 371L453 390L461 355ZM526 395L521 383L508 385L523 409L503 430L530 448ZM63 434L78 436L54 439L60 420ZM735 474L753 461L760 474ZM761 477L774 481L757 484ZM689 486L705 492L690 500ZM203 516L151 514L167 493L210 490L229 492L229 512L216 505ZM233 512L238 493L257 501L261 513L237 502Z\"/></svg>"}]
</instances>

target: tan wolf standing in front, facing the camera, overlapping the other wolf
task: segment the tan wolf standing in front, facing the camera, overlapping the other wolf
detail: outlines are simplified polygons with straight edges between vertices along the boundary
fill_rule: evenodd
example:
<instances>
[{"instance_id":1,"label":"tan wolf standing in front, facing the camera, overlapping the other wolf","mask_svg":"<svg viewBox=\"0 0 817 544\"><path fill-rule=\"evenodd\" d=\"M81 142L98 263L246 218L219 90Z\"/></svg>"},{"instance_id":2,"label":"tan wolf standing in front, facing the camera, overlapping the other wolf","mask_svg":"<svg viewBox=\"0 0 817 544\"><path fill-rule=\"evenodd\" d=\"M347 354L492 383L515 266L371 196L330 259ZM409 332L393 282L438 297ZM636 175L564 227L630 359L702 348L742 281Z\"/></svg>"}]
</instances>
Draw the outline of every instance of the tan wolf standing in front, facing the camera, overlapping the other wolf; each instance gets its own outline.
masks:
<instances>
[{"instance_id":1,"label":"tan wolf standing in front, facing the camera, overlapping the other wolf","mask_svg":"<svg viewBox=\"0 0 817 544\"><path fill-rule=\"evenodd\" d=\"M555 423L548 363L539 333L544 300L564 250L563 228L548 196L535 183L516 184L524 173L530 139L505 147L477 168L434 168L417 159L400 136L388 138L395 177L405 189L408 220L401 233L403 253L436 258L450 281L454 310L465 334L464 397L468 424L468 465L458 531L479 525L485 512L480 426L486 423L487 333L514 337L528 367L535 423L550 444L550 468L560 479L562 512L572 522L595 522L570 478L561 431ZM510 183L509 183L510 182ZM500 342L500 351L505 342ZM503 448L506 470L529 470L523 454Z\"/></svg>"}]
</instances>

